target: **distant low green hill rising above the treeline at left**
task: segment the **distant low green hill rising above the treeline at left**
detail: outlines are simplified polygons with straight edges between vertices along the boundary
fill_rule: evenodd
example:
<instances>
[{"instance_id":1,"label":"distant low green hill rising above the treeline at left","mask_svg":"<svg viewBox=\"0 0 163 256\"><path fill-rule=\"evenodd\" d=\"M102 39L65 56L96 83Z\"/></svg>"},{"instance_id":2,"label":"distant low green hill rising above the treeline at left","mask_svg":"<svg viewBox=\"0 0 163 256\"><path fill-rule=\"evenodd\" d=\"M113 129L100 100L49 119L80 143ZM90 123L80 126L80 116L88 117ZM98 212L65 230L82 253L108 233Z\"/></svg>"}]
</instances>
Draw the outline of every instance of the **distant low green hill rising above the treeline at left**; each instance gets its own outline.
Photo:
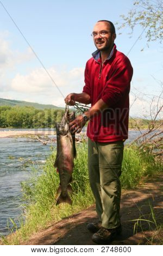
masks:
<instances>
[{"instance_id":1,"label":"distant low green hill rising above the treeline at left","mask_svg":"<svg viewBox=\"0 0 163 256\"><path fill-rule=\"evenodd\" d=\"M8 99L2 99L0 98L0 106L28 106L28 107L34 107L37 109L45 109L45 108L55 108L55 109L64 109L62 107L57 107L54 105L45 105L45 104L39 104L35 102L28 102L28 101L21 101L21 100L8 100Z\"/></svg>"}]
</instances>

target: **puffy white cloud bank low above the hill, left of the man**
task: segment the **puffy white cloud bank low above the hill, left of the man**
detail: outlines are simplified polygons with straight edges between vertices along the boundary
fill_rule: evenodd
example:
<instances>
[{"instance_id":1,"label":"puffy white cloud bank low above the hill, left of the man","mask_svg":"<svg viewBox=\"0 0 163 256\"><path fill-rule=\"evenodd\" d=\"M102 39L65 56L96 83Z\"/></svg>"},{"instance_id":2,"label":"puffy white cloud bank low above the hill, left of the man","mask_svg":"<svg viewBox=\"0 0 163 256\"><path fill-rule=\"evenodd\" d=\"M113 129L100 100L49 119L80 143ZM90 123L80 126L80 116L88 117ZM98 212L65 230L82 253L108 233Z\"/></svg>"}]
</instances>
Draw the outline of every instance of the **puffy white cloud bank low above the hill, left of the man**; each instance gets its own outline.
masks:
<instances>
[{"instance_id":1,"label":"puffy white cloud bank low above the hill, left of the man","mask_svg":"<svg viewBox=\"0 0 163 256\"><path fill-rule=\"evenodd\" d=\"M52 77L49 77L48 74ZM53 83L53 81L54 83ZM55 85L57 84L57 86ZM35 69L28 75L17 74L11 81L11 89L23 93L45 93L50 94L51 90L57 87L65 93L70 89L84 84L84 68L72 70L57 70L54 67L47 69Z\"/></svg>"}]
</instances>

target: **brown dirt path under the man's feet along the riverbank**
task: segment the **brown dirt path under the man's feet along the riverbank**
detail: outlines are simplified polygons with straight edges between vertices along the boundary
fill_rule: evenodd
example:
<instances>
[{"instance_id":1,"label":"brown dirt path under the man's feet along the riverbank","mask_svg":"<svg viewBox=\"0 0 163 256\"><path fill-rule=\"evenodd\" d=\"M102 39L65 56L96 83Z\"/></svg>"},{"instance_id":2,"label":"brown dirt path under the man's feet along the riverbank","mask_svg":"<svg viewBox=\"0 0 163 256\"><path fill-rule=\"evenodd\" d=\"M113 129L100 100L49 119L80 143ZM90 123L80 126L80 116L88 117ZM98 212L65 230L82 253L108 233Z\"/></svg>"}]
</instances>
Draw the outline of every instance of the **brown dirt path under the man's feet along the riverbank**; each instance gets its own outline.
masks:
<instances>
[{"instance_id":1,"label":"brown dirt path under the man's feet along the riverbank","mask_svg":"<svg viewBox=\"0 0 163 256\"><path fill-rule=\"evenodd\" d=\"M149 202L155 211L158 224L162 223L163 203L162 203L162 187L163 175L159 175L155 179L148 180L145 185L140 186L136 190L122 192L121 199L121 222L122 234L112 242L112 245L143 245L147 242L147 238L153 237L153 243L160 243L162 239L162 231L158 235L155 230L150 231L148 222L142 222L142 229L137 230L137 234L133 234L135 220L142 216L143 219L149 220L150 208ZM150 218L151 219L151 218ZM152 219L151 219L152 220ZM97 215L95 205L90 208L74 214L64 220L52 224L47 229L30 237L26 245L95 245L91 236L86 229L86 224L96 222ZM154 235L154 236L153 236Z\"/></svg>"}]
</instances>

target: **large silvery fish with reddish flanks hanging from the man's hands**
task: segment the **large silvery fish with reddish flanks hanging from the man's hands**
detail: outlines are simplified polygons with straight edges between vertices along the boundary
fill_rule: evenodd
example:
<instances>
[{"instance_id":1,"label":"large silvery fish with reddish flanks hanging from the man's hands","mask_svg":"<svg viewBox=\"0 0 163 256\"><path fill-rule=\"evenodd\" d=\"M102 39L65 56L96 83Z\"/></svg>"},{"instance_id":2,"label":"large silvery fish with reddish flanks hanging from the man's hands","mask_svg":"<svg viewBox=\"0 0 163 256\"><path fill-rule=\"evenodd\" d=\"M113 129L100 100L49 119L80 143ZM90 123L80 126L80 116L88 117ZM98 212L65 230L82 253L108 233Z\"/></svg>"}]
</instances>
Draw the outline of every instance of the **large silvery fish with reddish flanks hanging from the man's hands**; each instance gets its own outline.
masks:
<instances>
[{"instance_id":1,"label":"large silvery fish with reddish flanks hanging from the man's hands","mask_svg":"<svg viewBox=\"0 0 163 256\"><path fill-rule=\"evenodd\" d=\"M72 200L68 192L72 193L70 182L72 181L72 173L74 166L74 157L76 157L75 135L69 129L68 123L74 120L75 115L69 113L66 106L65 114L61 123L56 123L57 132L57 157L54 167L57 167L60 178L60 185L57 193L59 195L56 205L60 203L68 203L72 205Z\"/></svg>"}]
</instances>

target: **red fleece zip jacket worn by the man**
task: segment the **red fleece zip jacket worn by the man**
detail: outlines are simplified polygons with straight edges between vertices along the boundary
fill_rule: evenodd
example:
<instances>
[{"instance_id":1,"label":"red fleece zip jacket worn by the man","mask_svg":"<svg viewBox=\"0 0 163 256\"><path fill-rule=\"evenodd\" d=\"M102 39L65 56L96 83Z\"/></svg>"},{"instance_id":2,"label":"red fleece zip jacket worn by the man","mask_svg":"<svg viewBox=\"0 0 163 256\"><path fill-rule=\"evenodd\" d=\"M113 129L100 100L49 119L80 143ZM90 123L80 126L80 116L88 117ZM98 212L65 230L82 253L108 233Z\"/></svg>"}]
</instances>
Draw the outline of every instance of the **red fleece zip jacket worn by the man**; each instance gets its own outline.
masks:
<instances>
[{"instance_id":1,"label":"red fleece zip jacket worn by the man","mask_svg":"<svg viewBox=\"0 0 163 256\"><path fill-rule=\"evenodd\" d=\"M86 63L83 92L91 97L91 105L102 99L107 105L89 121L87 136L92 141L114 142L128 138L129 91L133 68L129 59L112 48L103 66L99 51Z\"/></svg>"}]
</instances>

